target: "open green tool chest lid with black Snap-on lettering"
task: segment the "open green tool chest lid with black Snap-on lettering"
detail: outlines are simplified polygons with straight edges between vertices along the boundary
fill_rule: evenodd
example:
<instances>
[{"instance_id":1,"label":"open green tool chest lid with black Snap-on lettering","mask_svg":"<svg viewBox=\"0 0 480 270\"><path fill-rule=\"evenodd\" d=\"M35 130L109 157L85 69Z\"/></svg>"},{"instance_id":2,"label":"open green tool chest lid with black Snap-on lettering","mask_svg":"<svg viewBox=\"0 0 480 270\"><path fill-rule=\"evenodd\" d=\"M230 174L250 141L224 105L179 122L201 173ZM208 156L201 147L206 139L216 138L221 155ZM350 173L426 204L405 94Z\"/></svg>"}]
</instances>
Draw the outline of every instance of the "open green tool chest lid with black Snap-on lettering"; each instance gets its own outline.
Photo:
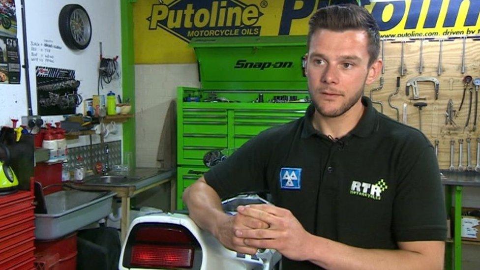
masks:
<instances>
[{"instance_id":1,"label":"open green tool chest lid with black Snap-on lettering","mask_svg":"<svg viewBox=\"0 0 480 270\"><path fill-rule=\"evenodd\" d=\"M203 89L306 90L306 36L193 38Z\"/></svg>"}]
</instances>

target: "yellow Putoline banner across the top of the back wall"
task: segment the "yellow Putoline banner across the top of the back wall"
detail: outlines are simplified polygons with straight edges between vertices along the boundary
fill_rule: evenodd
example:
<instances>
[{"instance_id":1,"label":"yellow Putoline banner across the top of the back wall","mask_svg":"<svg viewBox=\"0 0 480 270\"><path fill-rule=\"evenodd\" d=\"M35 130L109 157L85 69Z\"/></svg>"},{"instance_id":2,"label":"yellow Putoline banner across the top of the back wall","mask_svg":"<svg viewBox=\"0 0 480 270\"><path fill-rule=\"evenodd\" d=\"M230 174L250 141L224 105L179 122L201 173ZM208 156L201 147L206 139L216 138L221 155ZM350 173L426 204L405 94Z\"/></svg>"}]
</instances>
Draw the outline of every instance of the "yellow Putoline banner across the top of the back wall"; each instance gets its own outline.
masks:
<instances>
[{"instance_id":1,"label":"yellow Putoline banner across the top of the back wall","mask_svg":"<svg viewBox=\"0 0 480 270\"><path fill-rule=\"evenodd\" d=\"M328 0L138 0L136 63L193 63L193 37L306 35ZM480 0L361 0L383 37L480 34Z\"/></svg>"}]
</instances>

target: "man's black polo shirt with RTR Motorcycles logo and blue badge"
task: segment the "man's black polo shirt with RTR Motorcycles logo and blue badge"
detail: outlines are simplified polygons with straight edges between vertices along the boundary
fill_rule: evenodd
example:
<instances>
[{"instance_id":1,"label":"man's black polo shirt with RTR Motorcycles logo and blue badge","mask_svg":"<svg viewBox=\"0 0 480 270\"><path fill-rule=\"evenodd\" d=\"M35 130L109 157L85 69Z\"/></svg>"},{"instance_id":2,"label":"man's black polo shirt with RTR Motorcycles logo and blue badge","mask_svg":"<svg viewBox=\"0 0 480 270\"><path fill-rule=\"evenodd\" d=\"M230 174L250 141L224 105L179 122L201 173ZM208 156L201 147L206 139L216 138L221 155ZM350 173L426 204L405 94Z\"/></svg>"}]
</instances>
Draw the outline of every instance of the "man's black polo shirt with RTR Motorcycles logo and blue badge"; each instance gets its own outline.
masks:
<instances>
[{"instance_id":1,"label":"man's black polo shirt with RTR Motorcycles logo and blue badge","mask_svg":"<svg viewBox=\"0 0 480 270\"><path fill-rule=\"evenodd\" d=\"M361 248L445 240L446 213L434 150L417 129L379 114L371 101L359 124L332 141L305 116L245 143L205 180L221 198L270 192L311 234ZM284 269L315 269L283 260Z\"/></svg>"}]
</instances>

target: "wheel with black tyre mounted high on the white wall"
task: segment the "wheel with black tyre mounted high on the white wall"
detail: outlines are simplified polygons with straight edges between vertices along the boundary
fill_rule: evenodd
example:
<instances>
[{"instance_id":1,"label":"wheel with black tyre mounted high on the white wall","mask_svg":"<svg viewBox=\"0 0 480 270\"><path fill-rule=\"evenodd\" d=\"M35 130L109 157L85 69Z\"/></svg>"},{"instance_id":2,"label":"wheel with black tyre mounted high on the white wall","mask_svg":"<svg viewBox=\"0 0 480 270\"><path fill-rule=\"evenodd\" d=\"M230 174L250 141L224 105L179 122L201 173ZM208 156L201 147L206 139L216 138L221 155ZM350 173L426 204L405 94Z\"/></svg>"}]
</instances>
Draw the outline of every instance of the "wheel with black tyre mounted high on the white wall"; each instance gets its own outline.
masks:
<instances>
[{"instance_id":1,"label":"wheel with black tyre mounted high on the white wall","mask_svg":"<svg viewBox=\"0 0 480 270\"><path fill-rule=\"evenodd\" d=\"M60 36L68 48L83 50L91 40L91 22L85 8L79 4L65 5L59 15Z\"/></svg>"}]
</instances>

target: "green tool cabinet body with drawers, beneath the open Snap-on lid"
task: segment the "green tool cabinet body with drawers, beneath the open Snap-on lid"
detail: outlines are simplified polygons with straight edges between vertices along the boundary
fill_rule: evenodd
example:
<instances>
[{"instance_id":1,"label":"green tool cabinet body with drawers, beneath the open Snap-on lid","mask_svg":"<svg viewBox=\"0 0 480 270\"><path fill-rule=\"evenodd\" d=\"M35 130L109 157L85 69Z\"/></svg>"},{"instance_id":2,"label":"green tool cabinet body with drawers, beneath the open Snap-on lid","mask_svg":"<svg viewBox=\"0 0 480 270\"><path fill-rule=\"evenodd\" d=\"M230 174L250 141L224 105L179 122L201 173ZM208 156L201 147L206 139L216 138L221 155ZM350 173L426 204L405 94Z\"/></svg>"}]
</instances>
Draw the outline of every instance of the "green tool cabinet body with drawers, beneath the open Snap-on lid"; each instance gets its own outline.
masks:
<instances>
[{"instance_id":1,"label":"green tool cabinet body with drawers, beneath the open Snap-on lid","mask_svg":"<svg viewBox=\"0 0 480 270\"><path fill-rule=\"evenodd\" d=\"M179 100L185 90L178 89ZM302 117L307 106L307 103L179 102L178 209L183 208L183 190L208 170L203 164L205 153L239 148L265 129Z\"/></svg>"}]
</instances>

